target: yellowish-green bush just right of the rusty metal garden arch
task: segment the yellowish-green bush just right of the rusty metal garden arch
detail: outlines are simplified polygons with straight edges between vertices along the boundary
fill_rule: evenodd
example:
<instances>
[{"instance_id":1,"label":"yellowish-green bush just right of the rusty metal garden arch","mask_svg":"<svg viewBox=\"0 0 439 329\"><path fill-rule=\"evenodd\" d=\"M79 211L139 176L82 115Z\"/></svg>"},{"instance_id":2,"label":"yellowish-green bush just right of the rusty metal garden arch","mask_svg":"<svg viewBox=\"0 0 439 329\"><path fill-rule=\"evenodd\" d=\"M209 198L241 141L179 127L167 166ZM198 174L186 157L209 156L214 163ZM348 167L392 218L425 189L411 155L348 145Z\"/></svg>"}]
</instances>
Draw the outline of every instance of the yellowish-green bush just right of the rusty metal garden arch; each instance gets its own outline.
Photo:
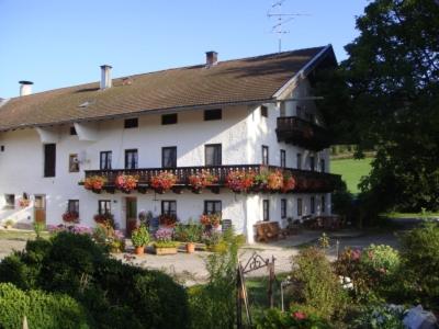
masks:
<instances>
[{"instance_id":1,"label":"yellowish-green bush just right of the rusty metal garden arch","mask_svg":"<svg viewBox=\"0 0 439 329\"><path fill-rule=\"evenodd\" d=\"M293 257L292 280L295 302L313 307L325 319L344 316L347 295L320 249L307 248Z\"/></svg>"}]
</instances>

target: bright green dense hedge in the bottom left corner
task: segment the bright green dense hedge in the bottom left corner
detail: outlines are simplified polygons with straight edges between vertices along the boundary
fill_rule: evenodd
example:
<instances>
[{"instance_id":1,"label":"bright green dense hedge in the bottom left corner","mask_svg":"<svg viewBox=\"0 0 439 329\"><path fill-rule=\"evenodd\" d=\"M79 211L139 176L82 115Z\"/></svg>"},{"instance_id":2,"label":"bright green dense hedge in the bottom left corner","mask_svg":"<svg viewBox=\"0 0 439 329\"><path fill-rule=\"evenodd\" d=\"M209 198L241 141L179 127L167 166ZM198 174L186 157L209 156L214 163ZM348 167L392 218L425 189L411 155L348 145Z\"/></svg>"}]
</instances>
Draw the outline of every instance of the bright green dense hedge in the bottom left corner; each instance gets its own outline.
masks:
<instances>
[{"instance_id":1,"label":"bright green dense hedge in the bottom left corner","mask_svg":"<svg viewBox=\"0 0 439 329\"><path fill-rule=\"evenodd\" d=\"M26 316L30 328L89 328L82 307L67 295L41 291L23 292L0 284L0 327L21 328Z\"/></svg>"}]
</instances>

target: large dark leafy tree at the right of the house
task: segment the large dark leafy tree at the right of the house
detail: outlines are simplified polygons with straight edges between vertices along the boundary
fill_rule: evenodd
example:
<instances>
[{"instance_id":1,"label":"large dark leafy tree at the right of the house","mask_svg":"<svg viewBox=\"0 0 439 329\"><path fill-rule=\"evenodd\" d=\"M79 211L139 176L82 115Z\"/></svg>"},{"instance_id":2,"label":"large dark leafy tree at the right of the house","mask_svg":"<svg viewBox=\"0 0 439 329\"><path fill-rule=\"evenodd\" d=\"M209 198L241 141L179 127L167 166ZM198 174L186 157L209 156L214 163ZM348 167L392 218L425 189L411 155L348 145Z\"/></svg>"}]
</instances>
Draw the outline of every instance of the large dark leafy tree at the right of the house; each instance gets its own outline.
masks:
<instances>
[{"instance_id":1,"label":"large dark leafy tree at the right of the house","mask_svg":"<svg viewBox=\"0 0 439 329\"><path fill-rule=\"evenodd\" d=\"M381 209L438 209L439 1L375 0L357 29L333 88L320 88L324 109L341 135L376 149L364 195Z\"/></svg>"}]
</instances>

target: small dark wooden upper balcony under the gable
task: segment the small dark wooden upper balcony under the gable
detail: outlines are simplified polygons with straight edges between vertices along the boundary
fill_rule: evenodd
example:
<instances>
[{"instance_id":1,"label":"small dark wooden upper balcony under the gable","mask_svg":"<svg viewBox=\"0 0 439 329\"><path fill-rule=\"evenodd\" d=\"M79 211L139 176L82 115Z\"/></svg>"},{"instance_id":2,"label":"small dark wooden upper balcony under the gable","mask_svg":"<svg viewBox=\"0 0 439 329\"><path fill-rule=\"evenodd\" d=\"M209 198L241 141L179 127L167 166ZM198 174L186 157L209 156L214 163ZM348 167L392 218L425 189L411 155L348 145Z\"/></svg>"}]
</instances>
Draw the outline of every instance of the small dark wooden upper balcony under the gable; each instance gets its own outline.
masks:
<instances>
[{"instance_id":1,"label":"small dark wooden upper balcony under the gable","mask_svg":"<svg viewBox=\"0 0 439 329\"><path fill-rule=\"evenodd\" d=\"M275 133L279 141L312 150L322 150L329 147L331 143L331 136L326 128L297 116L278 117Z\"/></svg>"}]
</instances>

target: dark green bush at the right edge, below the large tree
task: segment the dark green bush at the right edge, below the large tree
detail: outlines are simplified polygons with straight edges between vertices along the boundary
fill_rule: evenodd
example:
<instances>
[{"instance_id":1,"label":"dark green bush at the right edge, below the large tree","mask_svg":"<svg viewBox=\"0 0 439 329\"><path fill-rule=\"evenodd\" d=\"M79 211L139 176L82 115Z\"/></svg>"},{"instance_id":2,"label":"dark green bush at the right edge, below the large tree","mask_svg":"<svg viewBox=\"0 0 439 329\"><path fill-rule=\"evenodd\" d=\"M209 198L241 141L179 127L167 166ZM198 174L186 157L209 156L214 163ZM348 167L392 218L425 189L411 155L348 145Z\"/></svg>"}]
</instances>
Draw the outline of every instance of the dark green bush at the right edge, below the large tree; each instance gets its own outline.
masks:
<instances>
[{"instance_id":1,"label":"dark green bush at the right edge, below the large tree","mask_svg":"<svg viewBox=\"0 0 439 329\"><path fill-rule=\"evenodd\" d=\"M426 223L402 236L401 256L410 299L439 307L439 225Z\"/></svg>"}]
</instances>

